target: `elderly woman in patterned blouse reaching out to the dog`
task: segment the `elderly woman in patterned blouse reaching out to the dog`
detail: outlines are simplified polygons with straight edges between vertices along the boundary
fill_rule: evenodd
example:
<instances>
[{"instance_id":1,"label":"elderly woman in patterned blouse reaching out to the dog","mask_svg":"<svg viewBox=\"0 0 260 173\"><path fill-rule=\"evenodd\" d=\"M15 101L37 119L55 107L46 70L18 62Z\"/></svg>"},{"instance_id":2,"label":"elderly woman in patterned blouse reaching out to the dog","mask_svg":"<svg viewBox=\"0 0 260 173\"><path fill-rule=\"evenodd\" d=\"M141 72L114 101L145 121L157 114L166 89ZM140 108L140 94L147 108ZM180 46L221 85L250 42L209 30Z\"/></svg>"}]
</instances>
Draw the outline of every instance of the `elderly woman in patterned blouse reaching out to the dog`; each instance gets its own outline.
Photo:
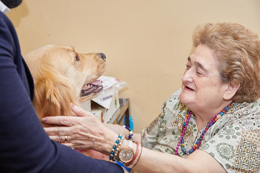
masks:
<instances>
[{"instance_id":1,"label":"elderly woman in patterned blouse reaching out to the dog","mask_svg":"<svg viewBox=\"0 0 260 173\"><path fill-rule=\"evenodd\" d=\"M193 47L181 89L141 134L102 124L74 105L81 117L45 117L64 125L47 134L61 143L67 135L72 147L138 172L260 171L260 39L239 24L208 23L196 28Z\"/></svg>"}]
</instances>

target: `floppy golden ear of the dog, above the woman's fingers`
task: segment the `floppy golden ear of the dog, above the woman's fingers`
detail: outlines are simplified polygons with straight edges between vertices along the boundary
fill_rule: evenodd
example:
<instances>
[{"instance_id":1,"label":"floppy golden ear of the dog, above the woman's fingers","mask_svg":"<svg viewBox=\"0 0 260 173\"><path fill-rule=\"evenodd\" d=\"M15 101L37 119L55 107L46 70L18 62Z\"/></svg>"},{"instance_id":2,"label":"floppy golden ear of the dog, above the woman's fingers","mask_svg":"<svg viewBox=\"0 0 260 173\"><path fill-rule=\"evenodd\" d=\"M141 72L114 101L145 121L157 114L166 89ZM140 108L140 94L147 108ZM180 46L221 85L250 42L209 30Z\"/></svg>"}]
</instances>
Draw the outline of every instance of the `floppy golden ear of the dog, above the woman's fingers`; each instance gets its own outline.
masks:
<instances>
[{"instance_id":1,"label":"floppy golden ear of the dog, above the woman's fingers","mask_svg":"<svg viewBox=\"0 0 260 173\"><path fill-rule=\"evenodd\" d=\"M45 116L68 116L71 114L70 103L78 105L68 79L57 72L52 71L37 79L34 94L33 105L40 120Z\"/></svg>"}]
</instances>

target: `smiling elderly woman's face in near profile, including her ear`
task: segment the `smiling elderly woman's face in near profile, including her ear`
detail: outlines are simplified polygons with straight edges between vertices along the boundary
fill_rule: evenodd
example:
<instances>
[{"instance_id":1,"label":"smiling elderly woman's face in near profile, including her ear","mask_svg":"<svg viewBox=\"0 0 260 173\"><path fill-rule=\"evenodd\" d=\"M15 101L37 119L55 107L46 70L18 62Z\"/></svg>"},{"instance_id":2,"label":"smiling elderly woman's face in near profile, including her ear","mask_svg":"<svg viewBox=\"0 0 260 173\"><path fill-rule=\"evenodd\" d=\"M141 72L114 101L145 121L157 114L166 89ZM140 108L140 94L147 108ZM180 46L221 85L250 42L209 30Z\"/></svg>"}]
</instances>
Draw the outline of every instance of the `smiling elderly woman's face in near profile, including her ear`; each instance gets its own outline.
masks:
<instances>
[{"instance_id":1,"label":"smiling elderly woman's face in near profile, including her ear","mask_svg":"<svg viewBox=\"0 0 260 173\"><path fill-rule=\"evenodd\" d=\"M187 68L182 77L180 101L191 110L214 109L223 105L225 90L226 85L220 82L213 50L198 45L188 58Z\"/></svg>"}]
</instances>

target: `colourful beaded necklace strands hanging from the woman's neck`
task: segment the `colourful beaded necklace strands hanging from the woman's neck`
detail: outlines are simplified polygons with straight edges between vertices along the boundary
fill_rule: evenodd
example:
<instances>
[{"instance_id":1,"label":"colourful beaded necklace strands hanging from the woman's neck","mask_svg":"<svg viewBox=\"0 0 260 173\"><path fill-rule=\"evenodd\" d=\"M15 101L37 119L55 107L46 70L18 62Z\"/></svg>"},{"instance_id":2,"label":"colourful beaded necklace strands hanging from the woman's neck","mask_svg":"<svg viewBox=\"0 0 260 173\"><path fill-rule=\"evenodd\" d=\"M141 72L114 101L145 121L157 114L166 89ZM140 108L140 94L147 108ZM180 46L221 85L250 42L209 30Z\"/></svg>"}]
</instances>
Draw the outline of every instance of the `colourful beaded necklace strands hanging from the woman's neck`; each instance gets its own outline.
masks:
<instances>
[{"instance_id":1,"label":"colourful beaded necklace strands hanging from the woman's neck","mask_svg":"<svg viewBox=\"0 0 260 173\"><path fill-rule=\"evenodd\" d=\"M189 151L186 151L185 147L184 147L184 133L185 130L189 124L189 120L192 114L192 111L190 109L188 109L187 114L185 115L185 119L183 122L183 128L182 128L182 133L180 134L180 140L177 144L176 150L175 150L175 155L177 155L178 153L178 149L179 146L181 146L181 150L184 154L191 154L194 151L196 151L199 146L201 141L203 140L204 134L207 132L207 130L216 122L218 121L218 119L229 110L229 107L232 105L232 103L230 103L228 106L226 106L220 113L218 113L217 115L213 116L212 119L207 123L207 127L202 131L202 134L200 135L200 137L198 138L198 140L196 141L196 144L194 144L194 147L192 147Z\"/></svg>"}]
</instances>

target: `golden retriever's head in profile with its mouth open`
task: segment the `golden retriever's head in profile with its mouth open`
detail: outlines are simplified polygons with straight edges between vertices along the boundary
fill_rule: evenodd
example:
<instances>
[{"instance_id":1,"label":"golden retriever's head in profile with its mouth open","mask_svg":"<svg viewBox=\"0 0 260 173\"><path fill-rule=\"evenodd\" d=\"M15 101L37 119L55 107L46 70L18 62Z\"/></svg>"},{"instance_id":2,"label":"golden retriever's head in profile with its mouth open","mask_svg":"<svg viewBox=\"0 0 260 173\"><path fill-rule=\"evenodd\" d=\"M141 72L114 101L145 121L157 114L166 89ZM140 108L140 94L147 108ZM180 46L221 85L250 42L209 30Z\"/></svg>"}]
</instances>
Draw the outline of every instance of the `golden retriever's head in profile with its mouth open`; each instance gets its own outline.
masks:
<instances>
[{"instance_id":1,"label":"golden retriever's head in profile with its mouth open","mask_svg":"<svg viewBox=\"0 0 260 173\"><path fill-rule=\"evenodd\" d=\"M33 105L40 119L70 115L70 102L79 106L103 89L101 81L96 80L105 71L103 53L80 54L69 46L49 45L24 59L34 79Z\"/></svg>"}]
</instances>

